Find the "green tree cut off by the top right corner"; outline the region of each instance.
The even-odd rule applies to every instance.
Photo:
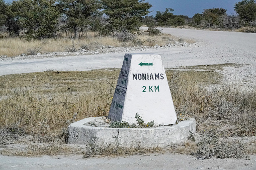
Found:
[[[234,10],[240,19],[246,23],[256,20],[256,2],[254,0],[243,0],[235,3]]]

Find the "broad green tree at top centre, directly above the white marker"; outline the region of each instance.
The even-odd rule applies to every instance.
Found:
[[[145,0],[102,0],[104,13],[108,16],[110,31],[135,31],[142,25],[142,17],[152,7]]]

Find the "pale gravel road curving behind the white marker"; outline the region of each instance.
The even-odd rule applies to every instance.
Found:
[[[227,80],[248,86],[255,83],[256,34],[173,28],[159,29],[163,33],[193,39],[199,43],[189,47],[141,49],[143,51],[130,50],[128,53],[160,54],[165,68],[223,63],[243,64],[243,67],[239,68],[226,68],[223,73],[225,73]],[[125,53],[0,58],[0,76],[46,70],[83,71],[101,68],[121,68]]]

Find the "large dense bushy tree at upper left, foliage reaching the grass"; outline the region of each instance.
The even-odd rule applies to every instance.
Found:
[[[60,13],[54,0],[19,0],[12,3],[15,20],[28,39],[56,37]]]

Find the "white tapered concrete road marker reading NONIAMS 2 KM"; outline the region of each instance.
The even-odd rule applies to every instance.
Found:
[[[125,54],[113,96],[109,118],[136,123],[175,124],[177,116],[160,55]]]

